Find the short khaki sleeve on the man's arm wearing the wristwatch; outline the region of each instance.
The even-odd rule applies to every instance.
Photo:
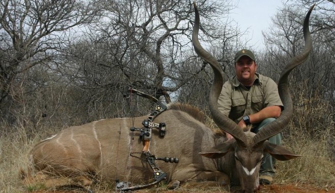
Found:
[[[283,109],[283,103],[280,100],[278,86],[271,78],[267,79],[264,87],[264,107],[280,106]]]

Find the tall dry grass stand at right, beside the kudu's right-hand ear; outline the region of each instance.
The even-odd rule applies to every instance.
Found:
[[[297,98],[293,121],[284,131],[283,145],[301,157],[278,162],[279,182],[335,188],[335,122],[327,102]]]

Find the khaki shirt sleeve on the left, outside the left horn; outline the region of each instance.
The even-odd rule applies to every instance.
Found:
[[[231,84],[227,81],[223,84],[219,99],[218,109],[221,113],[228,116],[231,110]]]

